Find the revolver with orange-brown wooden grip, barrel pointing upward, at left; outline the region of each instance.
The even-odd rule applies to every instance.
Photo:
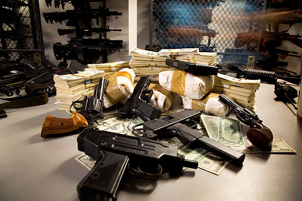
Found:
[[[41,130],[41,137],[58,136],[62,134],[72,134],[72,132],[89,127],[98,119],[103,119],[103,94],[108,81],[100,79],[100,83],[94,89],[93,96],[85,96],[84,100],[77,100],[70,106],[79,112],[74,112],[68,119],[57,118],[47,115]]]

